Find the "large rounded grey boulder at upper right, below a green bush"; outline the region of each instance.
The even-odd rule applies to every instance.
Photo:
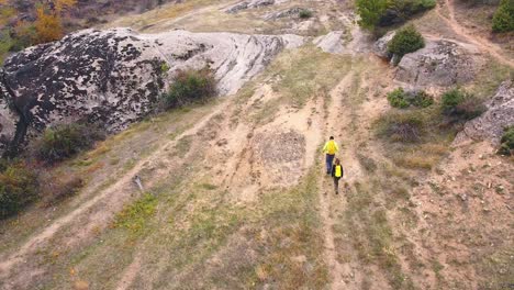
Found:
[[[424,48],[403,56],[395,79],[416,87],[462,85],[474,79],[481,59],[472,45],[428,40]]]

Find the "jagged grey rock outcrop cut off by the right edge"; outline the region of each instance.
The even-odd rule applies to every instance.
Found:
[[[488,111],[466,123],[455,144],[471,140],[489,140],[498,143],[503,130],[514,124],[514,83],[504,81],[487,103]]]

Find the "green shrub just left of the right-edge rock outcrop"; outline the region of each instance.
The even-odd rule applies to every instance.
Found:
[[[451,122],[468,121],[485,111],[479,99],[460,89],[451,89],[443,94],[442,109]]]

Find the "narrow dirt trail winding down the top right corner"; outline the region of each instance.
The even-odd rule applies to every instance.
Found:
[[[469,43],[476,45],[480,51],[489,53],[501,63],[514,67],[514,60],[509,56],[503,55],[502,49],[498,45],[473,34],[468,29],[458,23],[455,18],[455,7],[452,0],[445,0],[445,5],[448,9],[448,18],[444,15],[442,11],[443,7],[440,4],[437,5],[436,12],[443,20],[448,23],[455,33],[467,40]]]

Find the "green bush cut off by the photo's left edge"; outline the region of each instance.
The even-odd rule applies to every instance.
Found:
[[[37,198],[37,175],[26,164],[12,163],[0,172],[0,219],[18,213]]]

